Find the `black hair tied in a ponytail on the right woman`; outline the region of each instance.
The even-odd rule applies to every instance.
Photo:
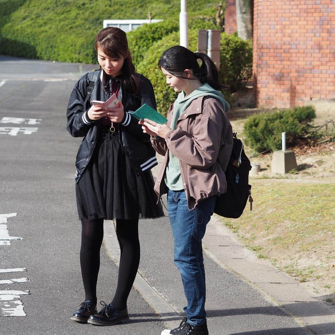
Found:
[[[201,66],[199,66],[197,59],[202,61]],[[164,51],[158,61],[158,67],[165,69],[176,77],[199,79],[203,84],[208,83],[216,90],[221,90],[225,87],[219,83],[217,68],[206,54],[192,52],[180,45]],[[192,70],[193,78],[186,77],[185,69]]]

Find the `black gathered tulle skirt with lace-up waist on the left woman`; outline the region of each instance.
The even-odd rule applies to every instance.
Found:
[[[118,88],[112,89],[112,93]],[[164,215],[153,189],[150,171],[138,176],[119,137],[119,124],[110,131],[110,121],[101,119],[92,157],[76,184],[79,219],[139,219]]]

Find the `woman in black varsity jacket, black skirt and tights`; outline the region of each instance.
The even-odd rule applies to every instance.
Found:
[[[140,260],[139,218],[163,216],[153,191],[150,169],[157,165],[150,136],[128,113],[144,103],[156,108],[150,81],[135,73],[126,33],[107,27],[96,36],[100,70],[90,87],[85,74],[75,84],[67,108],[67,130],[83,137],[76,158],[76,199],[82,224],[80,265],[85,300],[71,316],[82,323],[107,326],[129,319],[127,298]],[[87,89],[92,89],[85,104]],[[91,100],[106,101],[113,93],[118,105],[94,107]],[[96,284],[103,241],[104,220],[116,221],[121,249],[118,283],[110,304],[96,310]],[[112,284],[112,283],[111,283]]]

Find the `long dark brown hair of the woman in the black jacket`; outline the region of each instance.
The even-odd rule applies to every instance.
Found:
[[[132,94],[138,94],[140,84],[135,76],[135,66],[132,62],[126,33],[120,28],[106,27],[98,32],[95,38],[94,48],[112,58],[125,57],[122,66],[122,73],[119,76],[123,86]],[[103,71],[103,81],[109,80],[107,74]]]

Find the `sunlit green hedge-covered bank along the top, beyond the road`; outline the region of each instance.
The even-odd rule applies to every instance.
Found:
[[[190,21],[199,15],[213,18],[216,6],[189,2]],[[180,1],[0,0],[0,54],[96,63],[94,38],[105,18],[147,19],[149,11],[153,18],[179,22]]]

